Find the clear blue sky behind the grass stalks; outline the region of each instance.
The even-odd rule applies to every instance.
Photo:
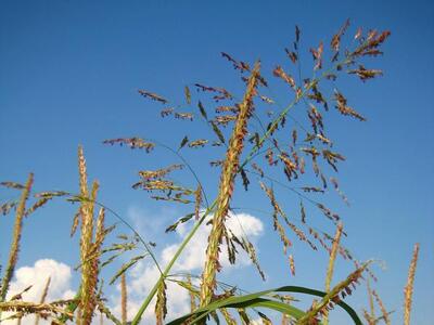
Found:
[[[336,115],[330,120],[336,148],[347,157],[339,179],[352,206],[345,207],[333,196],[330,205],[344,217],[348,233],[344,244],[354,255],[359,260],[384,262],[384,268],[374,266],[379,277],[374,287],[386,307],[395,310],[393,324],[401,323],[403,288],[412,246],[421,244],[412,320],[413,324],[432,324],[433,16],[433,2],[422,0],[1,1],[0,179],[24,182],[33,171],[36,191],[76,192],[76,153],[82,144],[89,177],[101,183],[100,200],[126,217],[149,240],[156,242],[164,259],[165,248],[179,242],[179,234],[163,235],[164,229],[186,209],[150,202],[146,193],[130,185],[137,181],[138,170],[178,162],[176,157],[163,150],[151,156],[107,147],[102,141],[139,135],[176,147],[184,134],[197,135],[204,129],[187,121],[162,120],[159,106],[142,99],[137,90],[148,89],[182,103],[183,87],[203,82],[225,86],[241,95],[238,73],[220,57],[221,51],[247,62],[260,58],[264,75],[270,76],[276,64],[289,66],[283,49],[292,43],[297,24],[304,72],[309,76],[308,49],[320,40],[328,46],[346,18],[352,21],[348,35],[354,35],[358,26],[390,29],[384,56],[370,65],[383,69],[384,76],[366,84],[347,79],[343,81],[348,83],[341,83],[349,104],[368,121],[360,123]],[[282,93],[279,82],[273,84],[275,93],[285,103],[290,95]],[[217,159],[218,154],[212,150],[201,153],[190,151],[186,155],[212,197],[218,173],[208,172],[204,165],[205,159]],[[246,195],[238,190],[234,206],[270,211],[260,191]],[[280,193],[290,211],[293,206],[297,208],[296,196],[283,190]],[[1,195],[4,200],[15,194],[2,191]],[[35,263],[41,259],[76,265],[76,239],[68,237],[74,212],[75,207],[58,202],[26,220],[18,266],[36,270]],[[250,235],[258,246],[268,280],[261,283],[253,268],[244,265],[225,274],[227,282],[252,289],[290,284],[322,288],[324,252],[311,253],[296,245],[297,275],[293,277],[269,214],[247,209],[243,212],[254,217],[240,218],[245,217],[247,223],[254,220],[248,223],[253,226]],[[312,224],[332,231],[319,213],[314,209],[311,213]],[[2,263],[12,222],[11,216],[0,219]],[[197,239],[194,245],[204,243]],[[352,270],[345,261],[337,265],[336,278]],[[149,266],[142,268],[152,273]],[[196,266],[190,270],[199,272]],[[139,283],[140,276],[136,274],[135,281]],[[72,275],[71,287],[63,283],[60,291],[74,290],[76,283]],[[365,291],[360,286],[348,300],[359,311],[367,307]],[[116,298],[111,303],[115,306]],[[337,313],[335,324],[346,322]]]

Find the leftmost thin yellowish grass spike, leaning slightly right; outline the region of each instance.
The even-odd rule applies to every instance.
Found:
[[[7,294],[9,290],[9,285],[12,280],[13,273],[15,271],[16,262],[18,261],[18,252],[20,252],[20,240],[23,231],[23,218],[26,211],[26,202],[28,199],[28,195],[31,190],[31,185],[34,182],[34,174],[29,173],[25,187],[23,188],[20,204],[16,208],[15,214],[15,224],[13,230],[13,237],[11,248],[9,249],[9,259],[8,266],[4,272],[4,276],[1,283],[1,291],[0,291],[0,302],[3,302],[7,298]],[[1,316],[1,313],[0,313]]]

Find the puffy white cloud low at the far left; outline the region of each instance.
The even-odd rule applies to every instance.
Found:
[[[68,265],[52,259],[40,259],[33,266],[23,266],[15,271],[15,277],[11,282],[8,298],[23,291],[31,285],[31,288],[23,294],[23,300],[39,302],[47,280],[51,277],[46,301],[73,298],[75,292],[71,289],[72,270]],[[2,317],[7,317],[3,313]],[[16,321],[2,322],[3,324],[16,324]],[[22,320],[23,325],[35,324],[35,316]],[[49,324],[41,321],[40,324]]]

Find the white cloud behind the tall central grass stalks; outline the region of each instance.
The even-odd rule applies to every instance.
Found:
[[[261,221],[247,213],[231,214],[227,220],[227,226],[238,237],[247,236],[251,242],[255,242],[264,232]],[[180,224],[177,229],[178,243],[166,246],[159,256],[161,265],[166,265],[183,237],[190,231],[191,225]],[[193,273],[200,274],[205,261],[205,249],[209,234],[210,225],[202,225],[195,233],[192,240],[189,243],[181,257],[178,259],[171,274],[176,273]],[[237,265],[229,263],[226,245],[221,247],[221,264],[230,272],[233,268],[242,268],[248,265],[250,259],[245,253],[240,253]],[[138,311],[140,303],[144,300],[145,295],[152,289],[157,281],[159,273],[155,265],[149,265],[140,262],[131,272],[128,273],[128,317],[132,317]],[[119,295],[113,297],[115,304],[115,314],[120,313]],[[167,299],[168,299],[168,318],[186,314],[190,311],[189,294],[186,289],[177,284],[167,283]],[[154,322],[154,302],[146,309],[143,314],[143,323],[151,324]]]

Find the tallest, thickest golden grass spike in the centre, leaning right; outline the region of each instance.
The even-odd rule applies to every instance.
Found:
[[[219,247],[225,226],[225,219],[229,210],[229,202],[233,193],[233,182],[240,164],[240,155],[244,147],[244,138],[247,133],[247,120],[252,115],[253,98],[256,94],[257,78],[259,75],[259,63],[255,64],[248,78],[244,99],[240,104],[240,112],[233,128],[226,159],[221,170],[219,192],[217,196],[217,209],[213,218],[212,230],[206,248],[205,266],[201,284],[201,307],[212,301],[216,287],[216,272],[219,270]]]

